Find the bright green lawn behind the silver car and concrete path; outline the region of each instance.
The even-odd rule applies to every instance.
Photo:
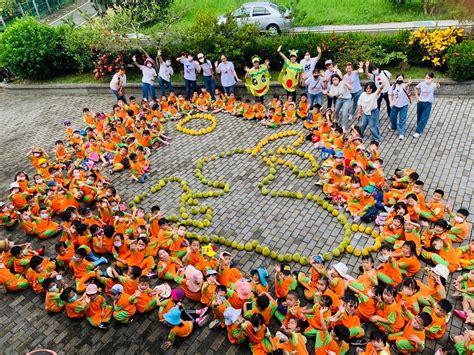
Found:
[[[174,6],[185,9],[187,14],[181,25],[192,23],[198,11],[206,10],[215,15],[233,11],[242,0],[175,0]],[[403,22],[434,19],[423,14],[420,0],[407,1],[404,5],[394,5],[389,0],[273,0],[273,2],[295,9],[295,26],[349,25],[378,22]],[[291,6],[291,3],[294,5]],[[438,15],[436,19],[447,19],[449,13]]]

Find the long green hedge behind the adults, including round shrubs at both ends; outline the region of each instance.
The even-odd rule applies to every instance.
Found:
[[[217,24],[214,16],[199,13],[195,25],[185,32],[158,34],[149,43],[160,43],[166,58],[175,58],[183,51],[205,53],[212,61],[225,53],[238,68],[250,65],[250,58],[258,54],[269,59],[272,69],[281,68],[281,58],[276,49],[297,49],[299,56],[309,50],[316,55],[316,48],[323,50],[323,59],[331,58],[342,67],[347,62],[370,60],[380,66],[397,66],[402,63],[419,65],[422,56],[409,44],[410,33],[396,34],[321,34],[307,33],[270,37],[261,35],[253,26],[237,27],[231,20]],[[473,42],[465,41],[449,51],[448,68],[456,80],[473,78]],[[7,67],[16,76],[41,79],[64,73],[80,73],[97,68],[99,58],[113,60],[120,53],[128,63],[133,54],[140,54],[140,45],[100,26],[74,28],[67,25],[50,27],[33,18],[15,21],[0,36],[0,66]],[[154,55],[156,47],[146,48]],[[177,70],[181,67],[173,61]],[[320,67],[324,64],[320,61]],[[110,68],[109,68],[110,69]]]

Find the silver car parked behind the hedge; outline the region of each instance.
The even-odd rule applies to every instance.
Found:
[[[254,24],[261,32],[276,35],[291,27],[291,11],[271,2],[247,2],[232,12],[238,26]],[[226,16],[220,16],[218,23],[225,23]]]

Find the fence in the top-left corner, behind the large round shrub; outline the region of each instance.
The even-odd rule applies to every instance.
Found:
[[[74,0],[26,0],[19,2],[18,5],[0,13],[0,31],[5,30],[8,24],[18,17],[43,18],[73,2]]]

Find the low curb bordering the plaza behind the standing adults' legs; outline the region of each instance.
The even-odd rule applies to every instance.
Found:
[[[416,85],[423,79],[413,80],[413,84]],[[366,83],[367,80],[361,80],[361,83]],[[474,80],[469,81],[454,81],[449,79],[440,79],[441,88],[438,91],[438,95],[445,96],[474,96]],[[198,86],[202,83],[198,82]],[[184,92],[184,83],[173,83],[173,87],[177,92]],[[0,83],[0,88],[4,92],[18,93],[35,93],[38,94],[56,94],[56,95],[97,95],[97,94],[111,94],[109,84],[7,84]],[[155,85],[157,94],[159,94],[159,86]],[[127,95],[141,95],[141,84],[129,84],[126,88]],[[298,92],[301,92],[298,90]],[[235,86],[235,94],[242,97],[250,97],[251,95],[247,91],[244,84],[237,84]],[[270,95],[284,95],[286,91],[282,86],[272,81],[270,84],[270,91],[266,96]]]

